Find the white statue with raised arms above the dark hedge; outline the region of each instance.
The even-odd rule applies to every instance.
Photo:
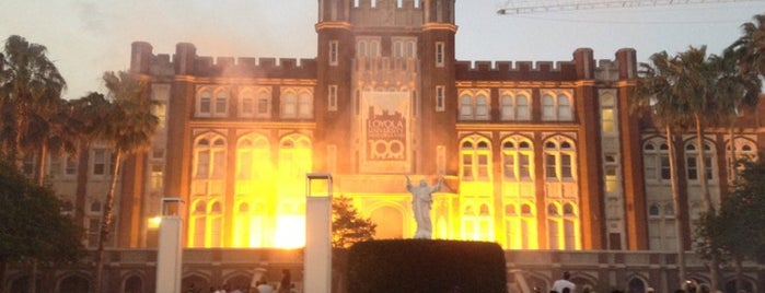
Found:
[[[433,225],[430,222],[430,206],[433,203],[431,195],[441,189],[443,177],[433,186],[428,186],[425,179],[419,180],[419,186],[413,186],[409,176],[406,176],[406,189],[412,192],[412,210],[417,222],[416,239],[430,239],[433,235]]]

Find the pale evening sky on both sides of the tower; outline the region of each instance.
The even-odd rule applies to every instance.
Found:
[[[758,0],[498,15],[506,1],[456,0],[457,60],[569,61],[582,47],[596,59],[635,48],[638,61],[688,46],[719,54],[741,24],[765,13]],[[185,42],[202,56],[315,58],[316,8],[316,0],[2,0],[0,42],[21,35],[46,46],[69,85],[65,96],[77,98],[104,92],[104,71],[127,70],[135,40],[154,54]]]

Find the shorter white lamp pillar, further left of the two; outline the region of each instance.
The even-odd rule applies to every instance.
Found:
[[[183,208],[184,201],[179,198],[162,199],[162,222],[157,251],[157,292],[181,293]]]

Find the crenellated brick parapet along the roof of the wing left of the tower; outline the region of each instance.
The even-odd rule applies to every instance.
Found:
[[[178,43],[171,58],[166,54],[153,55],[149,43],[135,42],[130,71],[155,77],[315,79],[316,60],[197,56],[196,47],[189,43]]]

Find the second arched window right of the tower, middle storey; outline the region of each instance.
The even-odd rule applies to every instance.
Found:
[[[509,181],[531,180],[533,150],[525,139],[508,139],[502,142],[502,177]]]

